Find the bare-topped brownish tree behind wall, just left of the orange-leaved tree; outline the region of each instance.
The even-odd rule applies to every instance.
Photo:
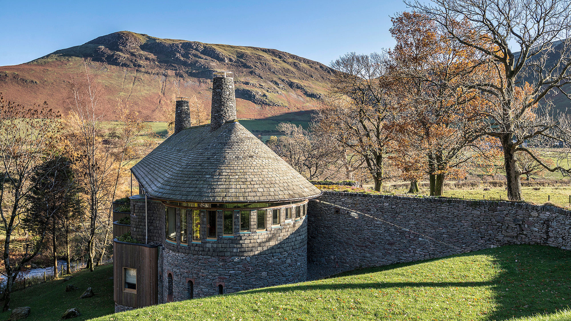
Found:
[[[326,106],[316,115],[316,129],[328,132],[351,154],[363,160],[380,191],[388,155],[396,148],[391,124],[397,105],[395,88],[387,78],[386,57],[379,54],[345,54],[331,64],[337,72]]]

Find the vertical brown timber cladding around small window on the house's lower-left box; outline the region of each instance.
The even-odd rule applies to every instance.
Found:
[[[113,244],[113,283],[116,304],[146,307],[158,303],[158,246],[119,242]],[[123,268],[135,268],[136,293],[123,291]]]

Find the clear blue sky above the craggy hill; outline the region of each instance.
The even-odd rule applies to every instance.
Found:
[[[0,0],[0,66],[128,30],[153,37],[273,48],[325,65],[391,47],[401,1]]]

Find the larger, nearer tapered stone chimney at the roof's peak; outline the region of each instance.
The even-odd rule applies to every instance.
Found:
[[[216,130],[224,122],[236,119],[236,95],[234,93],[233,73],[218,71],[212,75],[212,78],[210,129]]]

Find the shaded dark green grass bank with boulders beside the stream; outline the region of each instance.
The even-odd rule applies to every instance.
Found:
[[[11,308],[31,307],[26,321],[60,320],[63,312],[69,308],[78,308],[81,315],[73,320],[86,320],[111,314],[115,311],[113,302],[113,264],[96,267],[95,271],[79,271],[68,282],[62,279],[40,283],[22,291],[15,291],[10,302]],[[67,284],[74,284],[79,290],[66,292]],[[95,296],[79,299],[88,288],[93,288]],[[0,314],[0,320],[6,320],[10,311]]]

